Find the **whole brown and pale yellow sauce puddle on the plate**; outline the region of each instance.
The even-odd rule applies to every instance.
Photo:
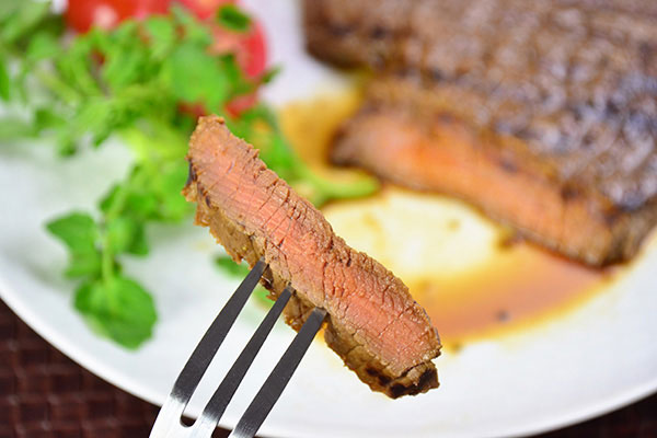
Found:
[[[343,181],[359,173],[332,168],[327,157],[336,129],[360,100],[360,91],[350,90],[281,108],[284,131],[316,171]],[[615,273],[514,242],[508,229],[446,196],[384,185],[323,212],[349,245],[404,280],[447,348],[558,318]]]

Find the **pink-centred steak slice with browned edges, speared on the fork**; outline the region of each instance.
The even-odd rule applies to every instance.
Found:
[[[285,310],[295,330],[314,307],[325,309],[326,344],[372,390],[397,397],[438,387],[431,362],[438,333],[406,286],[347,246],[257,155],[222,118],[199,119],[183,191],[197,204],[196,223],[209,227],[237,262],[253,266],[264,257],[263,284],[273,298],[287,285],[295,288]]]

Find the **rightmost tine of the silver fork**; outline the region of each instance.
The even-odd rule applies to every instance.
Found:
[[[326,318],[326,311],[315,308],[287,348],[261,390],[238,422],[229,438],[252,438],[280,397],[283,390],[299,366],[308,347]]]

